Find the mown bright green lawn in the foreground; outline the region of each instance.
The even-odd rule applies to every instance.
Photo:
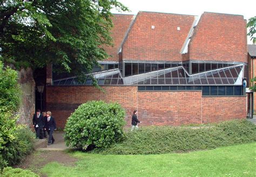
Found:
[[[161,155],[71,153],[80,160],[66,167],[47,164],[48,176],[256,176],[256,143],[209,151]]]

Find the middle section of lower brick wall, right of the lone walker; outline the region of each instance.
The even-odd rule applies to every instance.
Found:
[[[143,125],[201,124],[201,92],[138,92]]]

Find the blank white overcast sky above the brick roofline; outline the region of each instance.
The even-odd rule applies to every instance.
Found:
[[[245,19],[256,16],[256,0],[118,0],[127,6],[131,12],[124,14],[136,15],[138,11],[178,13],[198,15],[203,12],[218,12],[242,15]],[[113,13],[120,13],[112,10]],[[250,39],[247,41],[251,44]]]

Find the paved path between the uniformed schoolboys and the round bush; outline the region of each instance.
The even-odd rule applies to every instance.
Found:
[[[49,137],[49,136],[48,136]],[[64,142],[64,132],[62,131],[55,131],[53,132],[53,137],[55,139],[54,144],[47,145],[47,147],[44,148],[36,148],[36,150],[39,151],[65,151],[66,149],[70,149],[65,145]],[[48,138],[44,138],[46,142],[48,142]]]

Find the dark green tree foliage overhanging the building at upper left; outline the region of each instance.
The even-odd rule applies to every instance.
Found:
[[[112,8],[127,10],[116,0],[1,1],[0,55],[16,66],[90,71],[108,57]]]

